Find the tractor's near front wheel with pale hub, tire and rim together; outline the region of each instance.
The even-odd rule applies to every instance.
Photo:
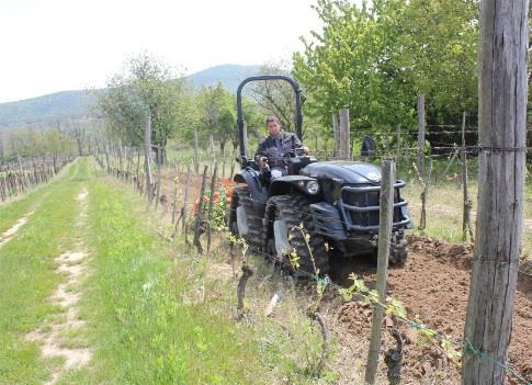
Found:
[[[314,275],[316,272],[319,275],[329,272],[325,239],[314,233],[310,203],[302,194],[272,196],[268,200],[263,220],[262,249],[295,276],[302,278]],[[308,247],[304,234],[298,228],[301,225],[304,234],[309,235]],[[288,258],[293,251],[298,257],[298,269],[294,268]]]

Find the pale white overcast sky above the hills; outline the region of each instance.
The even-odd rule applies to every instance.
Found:
[[[0,0],[0,102],[103,87],[147,50],[186,73],[290,60],[315,0]]]

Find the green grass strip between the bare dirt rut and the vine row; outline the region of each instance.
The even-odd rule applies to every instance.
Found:
[[[259,356],[227,317],[188,304],[185,263],[143,224],[145,204],[121,186],[90,186],[91,279],[82,316],[95,353],[65,384],[265,383]]]

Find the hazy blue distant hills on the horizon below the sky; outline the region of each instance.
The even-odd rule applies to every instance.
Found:
[[[189,75],[195,88],[215,86],[220,81],[235,92],[247,76],[257,73],[260,66],[222,65]],[[98,91],[97,91],[98,92]],[[94,94],[84,90],[61,91],[47,95],[0,103],[0,128],[21,126],[47,126],[65,118],[87,116],[94,103]]]

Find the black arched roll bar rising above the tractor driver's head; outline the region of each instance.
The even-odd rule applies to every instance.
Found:
[[[258,80],[284,80],[287,81],[295,93],[295,129],[296,135],[299,140],[303,140],[303,113],[302,113],[302,90],[299,83],[285,75],[260,75],[252,76],[250,78],[244,79],[244,81],[238,86],[237,89],[237,125],[238,125],[238,144],[240,147],[240,156],[246,156],[245,154],[245,137],[244,137],[244,112],[242,112],[242,88],[251,81]]]

